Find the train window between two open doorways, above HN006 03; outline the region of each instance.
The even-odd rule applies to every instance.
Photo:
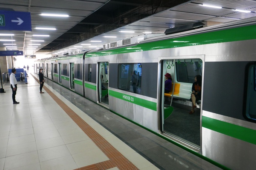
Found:
[[[141,92],[142,66],[140,63],[118,65],[118,88],[138,93]]]

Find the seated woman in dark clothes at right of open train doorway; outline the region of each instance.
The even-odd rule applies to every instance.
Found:
[[[189,114],[195,113],[195,108],[197,105],[195,105],[195,102],[198,100],[201,100],[201,90],[202,90],[202,76],[196,75],[195,76],[195,82],[192,84],[192,92],[190,101],[192,101],[192,108]]]

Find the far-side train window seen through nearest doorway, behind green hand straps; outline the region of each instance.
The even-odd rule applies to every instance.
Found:
[[[178,82],[194,83],[195,75],[202,75],[203,62],[200,59],[178,60],[175,64]]]

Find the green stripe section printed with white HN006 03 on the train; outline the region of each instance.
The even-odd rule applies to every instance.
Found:
[[[115,97],[115,98],[122,99],[124,101],[128,101],[128,102],[131,102],[133,104],[137,104],[137,105],[140,105],[142,107],[146,107],[146,108],[149,108],[151,110],[157,111],[157,103],[155,103],[155,102],[151,102],[151,101],[141,99],[141,98],[137,98],[137,97],[130,96],[130,95],[125,95],[123,93],[115,92],[113,90],[108,90],[108,94],[110,96]]]

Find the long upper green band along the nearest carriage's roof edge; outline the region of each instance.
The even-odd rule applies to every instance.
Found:
[[[188,35],[179,38],[170,38],[162,41],[137,44],[130,47],[104,50],[101,52],[87,53],[86,57],[106,56],[139,51],[160,50],[166,48],[187,47],[194,45],[215,44],[221,42],[243,41],[256,39],[256,25],[238,27],[227,30],[217,30],[197,35]],[[235,35],[235,36],[234,36]],[[106,53],[108,51],[109,53]]]

